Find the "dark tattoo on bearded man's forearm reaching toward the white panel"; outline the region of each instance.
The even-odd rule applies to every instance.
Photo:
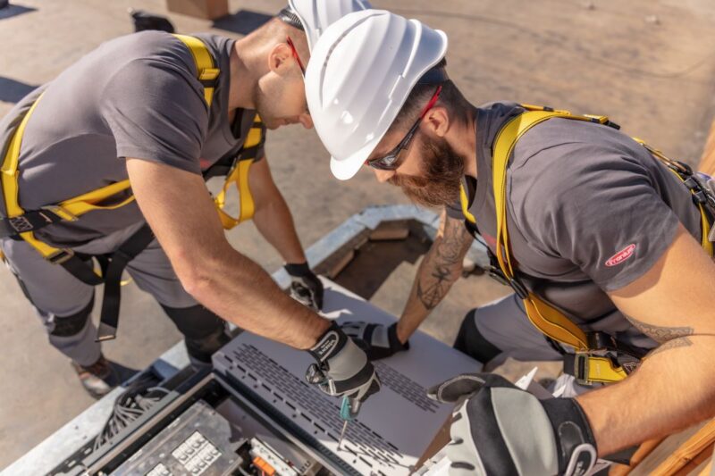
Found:
[[[454,268],[461,264],[467,243],[471,240],[461,221],[447,219],[444,235],[425,256],[417,276],[416,295],[427,310],[437,307],[457,280],[458,275],[453,275]],[[422,276],[423,270],[430,271],[429,276]]]

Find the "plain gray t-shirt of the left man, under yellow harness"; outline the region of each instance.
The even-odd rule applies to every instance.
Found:
[[[125,157],[200,174],[235,156],[256,112],[240,110],[235,121],[229,121],[229,58],[234,41],[197,37],[221,70],[210,112],[189,49],[159,31],[106,42],[16,104],[0,121],[2,144],[7,144],[21,114],[44,91],[22,138],[21,206],[37,209],[126,180]],[[258,158],[262,156],[259,151]],[[124,197],[113,197],[111,202]],[[142,220],[139,207],[132,203],[50,225],[36,236],[55,246],[80,246]]]

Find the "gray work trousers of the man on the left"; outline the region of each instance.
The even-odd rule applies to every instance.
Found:
[[[87,245],[78,246],[74,250],[88,255],[102,255],[115,251],[136,230],[141,223],[127,230],[110,234],[94,240]],[[77,313],[83,313],[88,308],[94,296],[94,287],[77,280],[62,266],[48,263],[42,256],[24,241],[10,238],[0,240],[8,264],[13,274],[18,278],[25,295],[35,307],[39,318],[45,325],[50,344],[64,355],[80,365],[90,365],[97,362],[101,347],[97,338],[97,329],[92,320],[86,316],[84,327],[76,333],[66,335],[55,329],[62,327],[63,318]],[[140,289],[156,298],[159,304],[170,308],[190,308],[198,305],[197,301],[181,286],[181,282],[172,269],[172,264],[164,254],[156,239],[137,255],[128,265],[126,271]],[[206,326],[223,326],[213,313],[206,311],[208,319]],[[170,314],[170,317],[173,316]],[[177,327],[181,329],[181,325]],[[67,326],[64,326],[67,327]],[[186,332],[184,332],[186,335]]]

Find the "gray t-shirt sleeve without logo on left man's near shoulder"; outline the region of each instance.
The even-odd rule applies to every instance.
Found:
[[[165,163],[201,173],[206,103],[189,71],[156,60],[135,60],[105,87],[102,114],[118,157]]]

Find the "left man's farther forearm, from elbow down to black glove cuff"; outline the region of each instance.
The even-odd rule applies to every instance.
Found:
[[[280,193],[257,210],[253,221],[261,235],[286,263],[306,262],[290,209]]]

